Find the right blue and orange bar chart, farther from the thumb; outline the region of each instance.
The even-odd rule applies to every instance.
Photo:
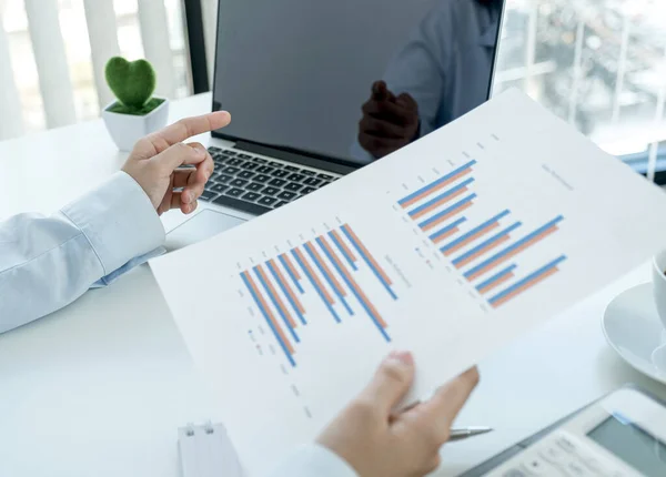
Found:
[[[531,227],[509,209],[480,219],[473,213],[474,205],[484,200],[474,192],[477,165],[470,160],[397,204],[437,252],[497,308],[559,271],[565,254],[545,256],[537,266],[521,265],[519,257],[556,233],[564,216]]]

